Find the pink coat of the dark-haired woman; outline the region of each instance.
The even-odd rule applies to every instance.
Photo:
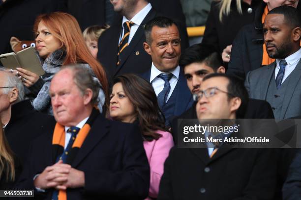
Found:
[[[158,140],[143,142],[151,168],[149,191],[149,197],[151,198],[157,198],[158,196],[159,184],[164,172],[164,162],[169,154],[169,150],[174,146],[173,136],[170,132],[158,130],[157,133],[162,135]]]

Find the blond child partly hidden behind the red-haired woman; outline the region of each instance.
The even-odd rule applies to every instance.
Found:
[[[87,46],[89,47],[89,50],[91,54],[94,56],[94,58],[97,57],[98,52],[98,38],[102,34],[103,31],[108,29],[109,25],[92,25],[87,27],[84,32],[83,36],[86,41]]]

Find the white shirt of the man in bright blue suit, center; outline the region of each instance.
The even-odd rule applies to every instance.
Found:
[[[160,70],[158,70],[153,63],[151,63],[151,78],[150,78],[150,82],[152,84],[152,87],[156,93],[156,96],[158,97],[158,94],[163,90],[164,88],[164,83],[165,81],[162,78],[157,77],[160,74],[163,75],[167,75],[167,74],[173,74],[173,77],[169,80],[169,84],[170,84],[170,91],[168,93],[167,96],[167,100],[166,102],[169,100],[170,96],[172,95],[178,80],[179,80],[179,75],[180,75],[180,66],[176,67],[174,70],[166,73],[166,72],[161,72]],[[166,103],[165,102],[165,103]]]

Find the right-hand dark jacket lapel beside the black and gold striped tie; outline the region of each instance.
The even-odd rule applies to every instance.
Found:
[[[122,54],[121,54],[121,62],[119,64],[119,66],[116,68],[114,76],[120,71],[120,69],[122,68],[122,66],[123,66],[124,62],[126,61],[127,57],[131,54],[131,52],[133,51],[133,49],[136,47],[136,45],[138,44],[139,40],[144,36],[144,27],[143,26],[147,22],[149,22],[152,18],[154,18],[155,15],[156,15],[156,11],[153,8],[151,8],[150,12],[144,18],[144,20],[142,21],[141,25],[139,25],[137,31],[135,32],[134,37],[130,41],[129,46],[127,48],[125,48],[124,51],[122,52]],[[121,29],[120,29],[120,32],[121,32]],[[120,34],[120,32],[119,32],[119,34]],[[116,54],[117,54],[117,51],[116,51]]]

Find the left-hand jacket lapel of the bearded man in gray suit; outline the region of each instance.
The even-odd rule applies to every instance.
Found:
[[[276,66],[276,62],[271,63],[268,66],[264,66],[263,68],[266,68],[263,71],[263,75],[261,77],[260,80],[260,98],[261,100],[266,100],[267,99],[267,94],[268,94],[268,89],[269,89],[269,85],[271,82],[271,78],[272,75],[274,74],[274,69]]]

